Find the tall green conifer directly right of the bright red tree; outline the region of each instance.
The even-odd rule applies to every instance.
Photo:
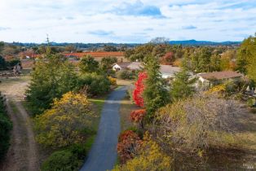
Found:
[[[147,110],[147,116],[150,119],[159,107],[164,106],[170,101],[170,96],[161,78],[158,60],[152,55],[148,55],[146,58],[145,71],[148,77],[144,83],[143,100]]]

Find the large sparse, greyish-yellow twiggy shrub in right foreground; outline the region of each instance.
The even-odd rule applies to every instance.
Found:
[[[162,142],[192,151],[218,147],[236,129],[241,107],[233,100],[198,96],[162,107],[157,134]]]

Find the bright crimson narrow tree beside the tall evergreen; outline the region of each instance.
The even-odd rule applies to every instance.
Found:
[[[135,82],[135,90],[133,92],[133,99],[135,100],[135,104],[139,107],[144,106],[143,102],[143,90],[144,83],[143,81],[148,77],[146,72],[139,72],[138,80]]]

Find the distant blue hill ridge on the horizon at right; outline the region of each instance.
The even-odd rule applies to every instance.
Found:
[[[170,45],[183,46],[239,46],[241,42],[208,42],[208,41],[170,41]]]

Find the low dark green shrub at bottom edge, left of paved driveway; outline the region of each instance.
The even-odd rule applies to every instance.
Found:
[[[79,170],[83,160],[78,159],[72,151],[55,151],[42,164],[42,171],[73,171]]]

